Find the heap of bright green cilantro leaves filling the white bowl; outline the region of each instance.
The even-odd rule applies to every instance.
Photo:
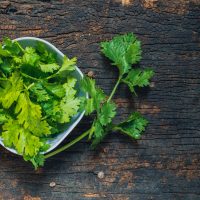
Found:
[[[42,43],[23,48],[5,38],[0,45],[0,138],[35,168],[48,139],[78,112],[75,65],[66,56],[59,64]]]

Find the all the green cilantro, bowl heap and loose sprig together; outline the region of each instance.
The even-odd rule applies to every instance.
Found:
[[[133,112],[124,121],[114,124],[117,105],[112,98],[119,84],[126,84],[136,95],[135,89],[148,86],[154,72],[134,66],[141,60],[142,50],[140,41],[132,33],[102,42],[101,51],[119,70],[116,84],[111,94],[106,95],[94,79],[85,76],[81,88],[89,97],[78,99],[74,89],[76,80],[70,76],[76,59],[65,57],[62,66],[59,66],[54,56],[40,46],[23,49],[16,42],[5,40],[4,48],[0,48],[0,96],[3,97],[0,98],[0,123],[4,144],[14,146],[25,160],[30,160],[37,168],[43,165],[44,159],[68,149],[85,137],[91,141],[93,148],[109,133],[140,139],[148,121],[139,112]],[[9,64],[6,65],[6,62]],[[2,96],[7,91],[9,96]],[[78,109],[85,110],[85,115],[95,116],[91,127],[61,148],[41,154],[48,148],[45,138],[58,133],[60,125],[69,122]]]

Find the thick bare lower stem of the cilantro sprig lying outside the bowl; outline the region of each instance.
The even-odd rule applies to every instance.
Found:
[[[87,130],[86,132],[84,132],[83,134],[81,134],[80,136],[78,136],[77,138],[75,138],[74,140],[72,140],[70,143],[62,146],[61,148],[59,148],[59,149],[57,149],[57,150],[55,150],[55,151],[53,151],[51,153],[46,154],[44,157],[45,158],[50,158],[50,157],[52,157],[52,156],[54,156],[54,155],[56,155],[56,154],[58,154],[58,153],[60,153],[60,152],[62,152],[64,150],[68,149],[69,147],[73,146],[74,144],[76,144],[77,142],[82,140],[84,137],[89,135],[89,133],[90,133],[90,129]]]

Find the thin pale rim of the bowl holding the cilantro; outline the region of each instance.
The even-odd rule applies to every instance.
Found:
[[[23,41],[23,40],[35,40],[35,41],[40,41],[42,43],[45,43],[46,45],[48,45],[49,47],[51,47],[55,52],[57,52],[58,54],[60,54],[60,56],[64,57],[64,54],[58,49],[56,48],[53,44],[51,44],[50,42],[38,38],[38,37],[19,37],[16,39],[13,39],[12,41]],[[75,66],[76,71],[79,73],[79,75],[81,76],[81,78],[83,78],[83,73],[81,72],[81,70]],[[88,93],[86,93],[86,98],[88,98]],[[63,131],[63,137],[61,137],[55,144],[53,144],[52,146],[50,146],[50,148],[45,151],[45,152],[41,152],[42,154],[46,154],[49,153],[50,151],[52,151],[53,149],[55,149],[61,142],[63,142],[63,140],[72,132],[72,130],[77,126],[77,124],[81,121],[81,119],[83,118],[84,114],[85,114],[85,110],[83,110],[82,112],[79,112],[80,116],[75,120],[75,122],[73,124],[71,124],[65,131]],[[58,133],[61,134],[61,133]],[[3,143],[3,141],[0,139],[0,144],[6,148],[8,151],[16,154],[16,155],[20,155],[17,153],[17,151],[13,148],[9,148],[6,147]],[[20,155],[22,156],[22,155]]]

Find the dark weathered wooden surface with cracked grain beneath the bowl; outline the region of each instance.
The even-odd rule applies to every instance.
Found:
[[[0,1],[0,39],[44,38],[78,56],[108,93],[117,70],[99,42],[126,32],[141,39],[141,66],[156,75],[138,98],[120,87],[116,120],[142,112],[150,121],[143,138],[112,134],[96,151],[83,141],[38,171],[0,148],[0,200],[200,199],[200,0]]]

